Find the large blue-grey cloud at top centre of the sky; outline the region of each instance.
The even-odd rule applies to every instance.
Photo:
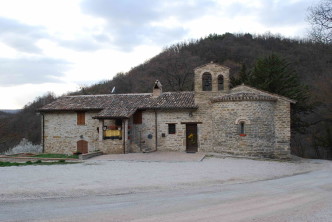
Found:
[[[84,0],[82,11],[103,18],[107,26],[107,40],[122,50],[132,50],[141,44],[169,44],[179,40],[188,31],[181,25],[184,21],[205,15],[213,6],[211,0],[162,1],[162,0]],[[177,25],[156,25],[167,19]],[[104,36],[105,37],[105,36]]]

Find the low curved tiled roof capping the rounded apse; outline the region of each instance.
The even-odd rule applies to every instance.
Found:
[[[277,101],[277,98],[251,92],[239,92],[227,94],[224,96],[217,96],[211,99],[211,102],[223,101]]]

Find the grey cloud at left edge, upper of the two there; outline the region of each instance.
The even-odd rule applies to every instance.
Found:
[[[48,37],[42,27],[26,25],[4,17],[0,17],[0,30],[0,40],[3,43],[27,53],[41,53],[36,43]]]

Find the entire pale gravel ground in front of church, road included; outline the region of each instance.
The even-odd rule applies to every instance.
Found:
[[[2,168],[0,221],[329,222],[331,169],[216,158]]]

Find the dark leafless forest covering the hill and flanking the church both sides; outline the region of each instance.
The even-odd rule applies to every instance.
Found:
[[[332,44],[280,35],[210,34],[197,40],[180,42],[148,61],[114,78],[81,87],[70,95],[151,92],[158,79],[163,91],[193,90],[193,69],[216,62],[231,69],[232,86],[250,75],[258,61],[276,55],[296,74],[308,96],[301,103],[310,106],[298,114],[301,129],[293,127],[292,153],[308,158],[331,158],[332,153]],[[112,61],[110,61],[112,62]],[[112,75],[113,76],[113,75]],[[250,82],[245,82],[251,84]],[[283,84],[283,83],[281,83]],[[253,85],[255,86],[255,85]],[[22,138],[40,143],[41,123],[36,110],[56,99],[50,93],[27,104],[16,114],[0,112],[0,152],[17,145]],[[301,104],[300,104],[301,105]]]

